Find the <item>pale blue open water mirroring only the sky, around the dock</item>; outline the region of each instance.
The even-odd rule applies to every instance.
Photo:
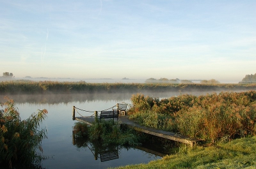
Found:
[[[44,155],[51,159],[43,161],[45,168],[108,168],[109,166],[121,166],[136,163],[148,163],[148,161],[159,159],[161,157],[149,154],[138,149],[119,149],[118,159],[100,162],[95,160],[89,148],[77,148],[72,143],[72,108],[75,105],[84,110],[104,110],[113,107],[116,103],[129,100],[108,100],[108,101],[84,101],[71,103],[57,103],[54,105],[37,103],[17,103],[20,116],[26,119],[37,109],[47,109],[49,114],[43,122],[42,127],[47,128],[47,137],[42,142]],[[92,115],[92,113],[79,112],[82,115]],[[77,115],[78,116],[78,115]]]

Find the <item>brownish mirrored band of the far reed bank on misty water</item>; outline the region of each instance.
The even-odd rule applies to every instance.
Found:
[[[170,98],[172,96],[179,96],[180,94],[204,95],[214,91],[204,92],[141,92],[145,96],[152,98]],[[12,94],[8,95],[10,99],[14,99],[16,103],[41,103],[41,104],[58,104],[70,102],[84,102],[84,101],[108,101],[108,100],[123,100],[131,99],[132,94],[137,92],[118,92],[118,93],[86,93],[86,94]],[[0,94],[0,103],[4,103],[4,96]]]

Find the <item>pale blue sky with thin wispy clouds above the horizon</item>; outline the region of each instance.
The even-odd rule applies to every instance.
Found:
[[[0,0],[0,73],[179,78],[256,73],[256,1]]]

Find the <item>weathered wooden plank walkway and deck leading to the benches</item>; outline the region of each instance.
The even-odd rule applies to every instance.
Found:
[[[86,122],[86,124],[91,125],[93,121],[95,121],[94,117],[76,117],[76,121]],[[169,140],[173,140],[176,142],[182,142],[191,145],[196,144],[200,140],[195,140],[192,138],[188,138],[186,136],[179,135],[178,133],[173,133],[170,131],[164,131],[163,129],[155,129],[155,128],[148,128],[145,126],[141,126],[140,124],[131,121],[128,115],[118,117],[118,121],[120,121],[121,125],[125,124],[127,127],[132,128],[136,131],[141,131],[143,133],[147,133],[149,135],[159,136],[161,138],[166,138]]]

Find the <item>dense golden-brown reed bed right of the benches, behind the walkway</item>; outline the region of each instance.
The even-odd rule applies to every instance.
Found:
[[[208,142],[256,134],[256,91],[188,94],[169,99],[133,95],[131,118],[145,126]]]

